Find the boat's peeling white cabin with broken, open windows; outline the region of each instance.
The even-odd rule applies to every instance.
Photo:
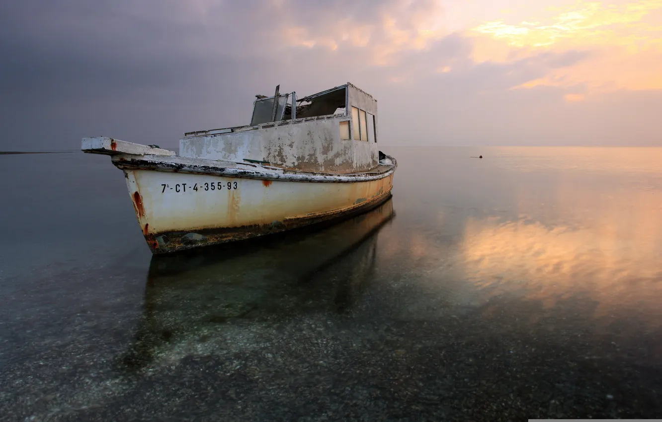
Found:
[[[377,100],[351,83],[308,95],[256,95],[246,126],[188,132],[182,157],[260,163],[314,173],[362,173],[378,165]]]

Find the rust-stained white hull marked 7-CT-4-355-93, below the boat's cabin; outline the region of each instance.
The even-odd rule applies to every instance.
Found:
[[[268,167],[252,165],[254,171],[243,169],[239,174],[237,168],[222,167],[214,174],[213,169],[201,170],[192,163],[173,166],[172,158],[164,157],[155,165],[134,157],[138,163],[131,162],[130,155],[113,158],[113,163],[126,175],[140,228],[153,253],[354,215],[387,200],[393,188],[393,171],[355,175],[354,179],[351,175],[305,177],[283,171],[269,174]]]

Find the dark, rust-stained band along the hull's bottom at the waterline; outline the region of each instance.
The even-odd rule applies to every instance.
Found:
[[[176,251],[183,251],[185,249],[193,249],[201,246],[216,245],[218,243],[226,243],[230,241],[244,240],[250,237],[268,235],[271,233],[284,232],[285,230],[301,228],[322,222],[330,222],[336,219],[340,220],[341,218],[350,218],[352,216],[363,214],[363,212],[377,208],[377,206],[383,204],[389,198],[391,198],[390,190],[381,196],[377,196],[371,200],[361,202],[360,205],[352,207],[350,210],[342,209],[336,212],[323,212],[320,214],[312,214],[298,218],[286,219],[283,222],[255,224],[253,226],[197,230],[196,233],[203,235],[204,241],[191,241],[191,239],[184,239],[184,237],[189,234],[188,231],[145,234],[147,230],[147,226],[145,226],[143,233],[145,234],[145,239],[150,246],[152,253],[172,253]]]

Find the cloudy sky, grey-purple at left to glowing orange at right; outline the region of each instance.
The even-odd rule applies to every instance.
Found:
[[[662,0],[0,3],[0,150],[176,148],[348,81],[385,146],[662,146]]]

